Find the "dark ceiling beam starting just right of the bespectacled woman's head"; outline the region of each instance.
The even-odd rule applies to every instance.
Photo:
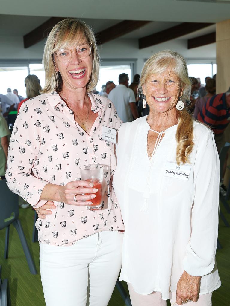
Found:
[[[141,21],[141,20],[121,21],[113,25],[112,27],[109,27],[101,32],[98,32],[96,34],[98,44],[107,43],[110,40],[123,36],[136,29],[139,29],[149,22],[150,21]]]

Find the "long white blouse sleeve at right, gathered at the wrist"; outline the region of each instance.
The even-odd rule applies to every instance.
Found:
[[[209,274],[215,264],[218,236],[220,162],[214,136],[199,128],[194,164],[195,196],[191,215],[191,237],[183,260],[184,270],[193,276]]]

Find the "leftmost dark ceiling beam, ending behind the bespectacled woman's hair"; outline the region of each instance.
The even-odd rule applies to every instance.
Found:
[[[24,48],[29,48],[34,44],[40,42],[47,38],[52,28],[61,20],[66,17],[51,17],[39,27],[35,28],[33,31],[23,36]]]

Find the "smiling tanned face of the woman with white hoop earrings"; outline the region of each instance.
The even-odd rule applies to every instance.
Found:
[[[150,110],[165,113],[176,106],[182,88],[178,76],[168,68],[162,73],[150,74],[143,85],[143,93]]]

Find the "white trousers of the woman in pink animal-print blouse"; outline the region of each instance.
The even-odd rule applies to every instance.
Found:
[[[123,234],[104,231],[72,246],[40,244],[46,306],[107,306],[121,269]]]

